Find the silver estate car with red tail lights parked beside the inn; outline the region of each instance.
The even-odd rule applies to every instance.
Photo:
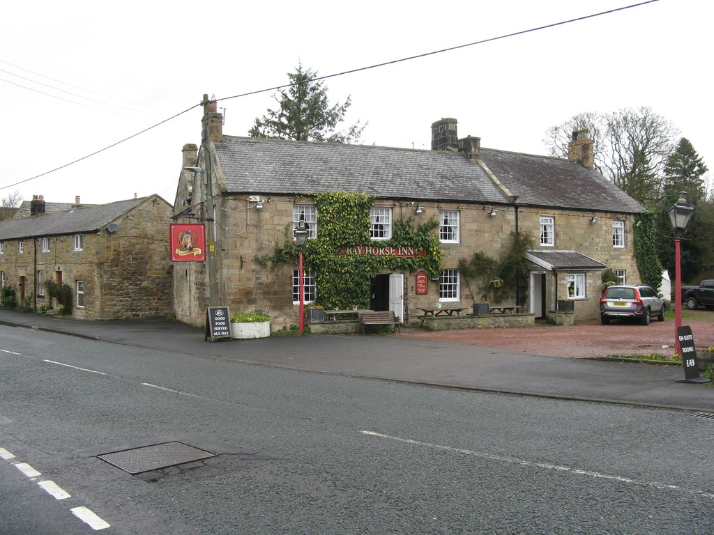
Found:
[[[608,325],[613,318],[631,317],[642,325],[650,325],[655,315],[660,322],[665,320],[665,302],[645,285],[613,285],[605,288],[600,298],[600,320]]]

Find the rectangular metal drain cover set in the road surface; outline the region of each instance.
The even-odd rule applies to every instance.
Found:
[[[134,449],[125,449],[121,452],[97,455],[99,459],[114,464],[129,474],[141,474],[158,470],[159,468],[174,467],[176,464],[216,457],[216,454],[203,449],[194,448],[182,442],[164,442]]]

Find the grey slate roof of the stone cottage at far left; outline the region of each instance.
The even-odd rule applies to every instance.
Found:
[[[34,238],[93,232],[105,228],[120,215],[149,197],[119,200],[116,203],[80,206],[64,212],[45,213],[29,218],[0,221],[0,240]]]

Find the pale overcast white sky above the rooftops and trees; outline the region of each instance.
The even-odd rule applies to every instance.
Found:
[[[4,2],[0,199],[174,203],[204,93],[223,133],[247,136],[273,93],[229,97],[283,85],[298,63],[326,76],[636,3]],[[325,83],[332,102],[351,96],[365,145],[429,149],[431,123],[453,117],[460,138],[545,154],[545,131],[576,113],[649,106],[714,170],[713,16],[710,0],[658,0]]]

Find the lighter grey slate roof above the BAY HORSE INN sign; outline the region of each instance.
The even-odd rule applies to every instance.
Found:
[[[224,136],[216,152],[228,193],[358,191],[386,198],[507,203],[461,154]]]

